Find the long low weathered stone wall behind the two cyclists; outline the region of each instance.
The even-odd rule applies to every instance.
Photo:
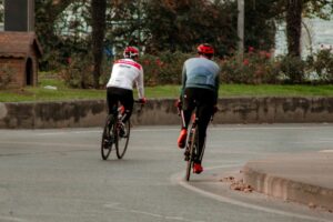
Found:
[[[180,124],[175,99],[149,100],[134,124]],[[101,127],[105,100],[0,102],[0,129]],[[214,123],[333,122],[333,98],[222,98]]]

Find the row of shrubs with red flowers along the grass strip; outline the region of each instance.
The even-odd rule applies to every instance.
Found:
[[[181,52],[162,52],[158,56],[141,56],[139,62],[144,70],[144,84],[148,87],[180,84],[183,62],[193,57]],[[295,57],[281,56],[271,58],[268,51],[249,50],[243,61],[233,56],[215,61],[221,67],[222,83],[304,83],[313,72],[323,83],[333,82],[333,54],[321,50],[303,61]],[[93,85],[91,54],[74,54],[62,71],[65,83],[72,88],[91,88]],[[111,73],[112,61],[103,60],[100,84],[105,85]],[[309,77],[306,77],[306,74]],[[3,80],[2,80],[3,81]]]

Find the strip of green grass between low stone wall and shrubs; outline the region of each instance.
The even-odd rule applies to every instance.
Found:
[[[46,85],[57,90],[44,89]],[[180,85],[147,87],[148,99],[178,98]],[[273,84],[221,84],[223,97],[333,97],[333,84],[326,85],[273,85]],[[137,97],[137,92],[134,92]],[[0,91],[0,102],[60,101],[80,99],[105,99],[105,90],[69,89],[62,81],[40,79],[39,87]]]

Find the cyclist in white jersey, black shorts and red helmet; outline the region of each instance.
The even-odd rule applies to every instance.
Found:
[[[117,60],[113,63],[111,77],[107,83],[107,100],[109,114],[113,105],[120,101],[127,113],[123,122],[130,119],[133,110],[133,84],[137,85],[139,102],[145,103],[143,87],[143,69],[137,62],[139,50],[135,47],[127,47],[123,52],[124,59]]]

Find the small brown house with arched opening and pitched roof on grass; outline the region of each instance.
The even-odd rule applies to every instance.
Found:
[[[37,85],[41,54],[34,32],[0,31],[0,81],[10,78],[7,88]]]

